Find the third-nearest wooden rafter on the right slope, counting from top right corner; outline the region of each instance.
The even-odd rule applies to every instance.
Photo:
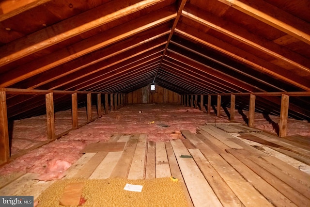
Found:
[[[254,56],[253,54],[222,42],[211,35],[204,33],[202,34],[202,32],[197,30],[195,31],[194,28],[188,28],[188,26],[186,26],[186,28],[176,28],[175,32],[180,33],[181,35],[193,39],[210,48],[216,49],[230,57],[233,57],[234,59],[237,59],[240,62],[243,62],[244,64],[256,68],[260,72],[267,73],[277,79],[284,80],[303,90],[310,91],[310,83],[308,80],[302,80],[301,77],[296,76],[289,71],[285,71],[283,68],[270,64],[263,59]]]

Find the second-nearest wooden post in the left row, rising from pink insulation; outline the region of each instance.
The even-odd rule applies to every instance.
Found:
[[[45,95],[47,107],[47,139],[55,139],[55,114],[54,114],[54,94]]]

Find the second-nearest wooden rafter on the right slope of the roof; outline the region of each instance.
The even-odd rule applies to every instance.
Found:
[[[310,73],[310,62],[305,57],[248,32],[232,22],[209,15],[206,11],[195,6],[186,6],[182,11],[182,15]]]

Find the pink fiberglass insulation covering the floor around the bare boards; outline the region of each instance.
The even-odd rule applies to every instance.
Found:
[[[96,118],[95,107],[92,115]],[[211,111],[213,112],[213,110]],[[86,110],[78,111],[78,124],[86,122]],[[248,116],[248,111],[243,111]],[[236,122],[246,124],[243,114],[235,112]],[[71,111],[60,111],[55,114],[56,131],[62,132],[71,127]],[[267,118],[267,120],[266,120]],[[110,111],[101,118],[70,131],[60,140],[48,143],[18,157],[0,167],[0,175],[12,172],[29,172],[38,174],[38,179],[51,180],[63,176],[63,172],[82,156],[80,153],[88,143],[107,142],[113,134],[145,133],[148,140],[166,141],[182,138],[181,130],[196,133],[199,126],[205,123],[229,122],[222,110],[221,116],[214,113],[203,113],[198,109],[178,104],[135,104],[116,111]],[[274,126],[279,117],[255,113],[254,127],[276,132]],[[288,135],[300,134],[310,136],[310,123],[289,119]],[[28,129],[28,130],[26,130]],[[16,121],[13,128],[12,152],[27,149],[30,146],[47,140],[46,117],[37,116]]]

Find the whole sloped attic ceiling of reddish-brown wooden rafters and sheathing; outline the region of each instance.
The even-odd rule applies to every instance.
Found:
[[[0,9],[0,88],[310,91],[309,0],[2,0]],[[290,101],[294,117],[310,120],[309,97]],[[7,106],[20,118],[45,103],[8,95]]]

